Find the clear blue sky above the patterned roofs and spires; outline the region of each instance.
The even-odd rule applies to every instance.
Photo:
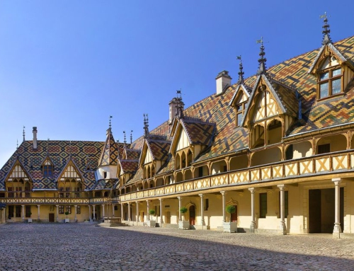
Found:
[[[176,90],[185,107],[215,93],[215,76],[237,81],[321,46],[327,11],[333,41],[354,35],[354,4],[341,1],[16,1],[0,2],[0,167],[16,140],[104,141],[169,118]]]

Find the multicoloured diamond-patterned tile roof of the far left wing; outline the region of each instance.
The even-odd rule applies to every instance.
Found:
[[[18,158],[23,164],[25,171],[30,174],[33,181],[33,189],[57,189],[57,178],[64,166],[72,161],[78,167],[84,178],[84,189],[90,189],[96,182],[93,171],[86,171],[88,163],[92,168],[98,166],[98,160],[103,149],[103,142],[80,142],[80,141],[41,141],[37,142],[37,149],[33,149],[32,141],[25,141],[18,147],[16,152],[0,170],[0,189],[4,190],[4,178],[11,170],[13,163]],[[53,177],[44,178],[42,175],[42,162],[49,156],[54,163]]]

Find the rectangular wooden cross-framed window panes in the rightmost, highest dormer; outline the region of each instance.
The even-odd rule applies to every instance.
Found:
[[[325,69],[319,74],[319,98],[326,98],[341,93],[341,82],[341,67],[336,66],[336,69]]]

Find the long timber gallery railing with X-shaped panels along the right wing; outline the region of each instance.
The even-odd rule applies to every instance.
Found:
[[[193,180],[164,185],[158,188],[131,192],[120,195],[122,202],[145,197],[159,197],[181,192],[193,192],[246,183],[260,183],[269,180],[306,177],[315,174],[327,174],[354,170],[354,152],[338,151],[311,157],[281,161],[251,168],[243,168],[227,173],[218,173]]]

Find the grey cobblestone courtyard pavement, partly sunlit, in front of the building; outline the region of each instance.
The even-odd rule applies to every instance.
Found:
[[[354,270],[354,239],[1,224],[0,270]]]

